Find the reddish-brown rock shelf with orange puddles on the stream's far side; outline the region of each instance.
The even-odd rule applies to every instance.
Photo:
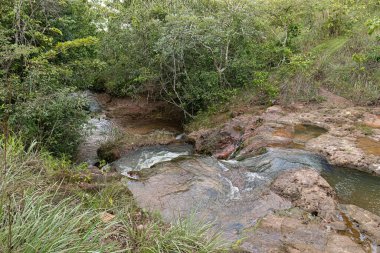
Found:
[[[216,157],[223,147],[229,147],[227,155],[236,152],[237,157],[254,156],[267,147],[298,148],[321,154],[332,165],[380,175],[378,113],[376,108],[362,107],[272,106],[259,116],[243,114],[218,129],[200,130],[190,136],[197,150],[206,149]],[[235,129],[240,130],[239,135]],[[233,145],[215,141],[214,136],[229,136]]]

